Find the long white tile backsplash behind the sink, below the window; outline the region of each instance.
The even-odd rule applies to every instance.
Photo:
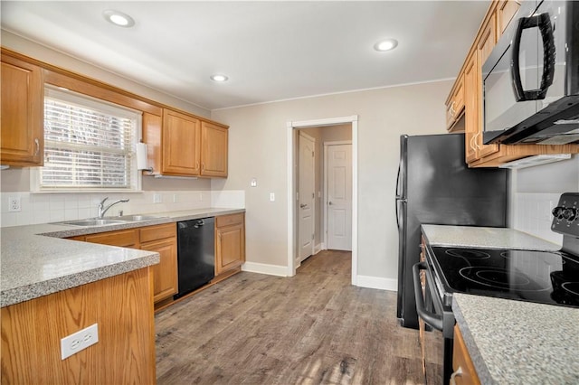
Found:
[[[106,216],[149,214],[166,211],[195,210],[208,207],[244,208],[243,191],[146,191],[131,193],[31,193],[1,192],[1,227],[56,221],[73,221],[97,216],[104,197],[110,202],[130,201],[111,207]],[[10,198],[20,199],[20,211],[9,211]]]

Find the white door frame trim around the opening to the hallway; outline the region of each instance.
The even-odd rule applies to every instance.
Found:
[[[324,127],[351,124],[352,125],[352,285],[357,286],[358,269],[358,116],[329,117],[315,120],[300,120],[286,122],[287,134],[287,175],[288,175],[288,277],[296,275],[296,173],[294,172],[294,129],[308,127]]]

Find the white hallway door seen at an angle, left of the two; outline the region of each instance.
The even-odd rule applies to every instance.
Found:
[[[314,196],[315,196],[315,141],[311,136],[299,133],[299,199],[298,264],[313,254],[314,250]]]

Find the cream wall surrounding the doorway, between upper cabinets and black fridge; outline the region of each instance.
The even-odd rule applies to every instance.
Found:
[[[212,190],[244,190],[248,261],[287,266],[288,121],[358,116],[358,274],[397,276],[394,188],[402,134],[445,133],[451,81],[214,110],[230,126],[229,177]],[[258,186],[251,188],[255,177]],[[276,201],[269,202],[270,192]]]

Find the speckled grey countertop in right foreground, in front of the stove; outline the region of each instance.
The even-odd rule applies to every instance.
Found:
[[[455,293],[452,312],[481,383],[579,383],[579,309]]]

